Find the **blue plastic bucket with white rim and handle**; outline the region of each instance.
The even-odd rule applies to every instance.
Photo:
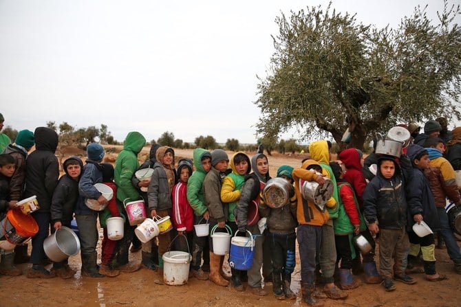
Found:
[[[232,240],[230,240],[230,253],[229,253],[229,266],[232,269],[240,271],[247,271],[253,265],[253,254],[255,247],[255,239],[250,231],[249,237],[236,236],[238,230],[235,232]]]

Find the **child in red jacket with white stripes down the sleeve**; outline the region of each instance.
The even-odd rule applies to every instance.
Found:
[[[180,238],[176,238],[175,247],[178,251],[192,252],[193,240],[193,209],[187,201],[187,181],[192,174],[192,161],[180,159],[176,170],[179,181],[171,192],[171,202],[173,203],[173,226],[178,231]],[[184,237],[182,237],[184,236]],[[184,240],[186,238],[186,240]],[[187,244],[186,244],[187,243]]]

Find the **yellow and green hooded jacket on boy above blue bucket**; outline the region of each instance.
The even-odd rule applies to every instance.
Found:
[[[237,155],[244,155],[246,158],[246,162],[248,163],[248,169],[246,170],[245,174],[239,174],[237,169],[235,168],[235,157]],[[221,187],[221,201],[223,203],[228,203],[228,220],[230,222],[235,222],[235,208],[237,207],[237,203],[240,199],[240,194],[242,187],[245,183],[245,175],[249,174],[251,171],[251,162],[250,158],[246,155],[246,153],[239,151],[235,152],[232,158],[229,161],[229,166],[232,172],[224,178]]]

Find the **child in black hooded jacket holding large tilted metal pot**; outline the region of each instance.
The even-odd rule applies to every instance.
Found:
[[[74,219],[75,205],[78,200],[78,181],[83,169],[83,162],[79,157],[69,157],[63,163],[65,174],[58,181],[54,189],[51,203],[52,233],[61,227],[69,227]],[[68,265],[68,260],[53,262],[54,273],[63,279],[74,276],[76,271]]]

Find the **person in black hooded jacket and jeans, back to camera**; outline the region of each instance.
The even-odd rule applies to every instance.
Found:
[[[28,271],[29,278],[50,278],[56,275],[47,271],[43,266],[45,250],[43,242],[50,234],[51,214],[50,207],[54,188],[58,185],[59,162],[54,152],[58,146],[58,134],[51,128],[39,127],[34,131],[35,150],[25,160],[25,190],[23,197],[36,195],[40,209],[32,212],[39,232],[32,237],[32,253]]]

